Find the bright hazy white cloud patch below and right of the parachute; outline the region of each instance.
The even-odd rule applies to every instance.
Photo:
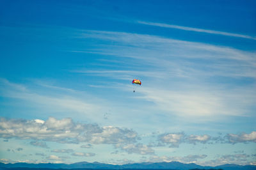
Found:
[[[196,121],[216,120],[221,116],[252,116],[255,92],[250,89],[236,89],[236,93],[225,88],[206,87],[198,89],[191,84],[181,89],[157,89],[143,87],[138,91],[142,98],[154,102],[159,109],[168,111],[172,116]],[[188,88],[188,89],[186,89]],[[241,102],[243,98],[243,102]],[[236,105],[234,105],[236,104]],[[215,116],[214,116],[215,115]],[[218,115],[218,116],[216,116]],[[200,116],[200,120],[198,120]]]

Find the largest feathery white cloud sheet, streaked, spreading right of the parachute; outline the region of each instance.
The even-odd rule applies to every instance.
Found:
[[[135,69],[124,66],[122,70],[81,69],[75,72],[124,80],[143,77],[143,88],[138,91],[140,98],[154,102],[157,108],[172,116],[189,119],[200,116],[201,119],[195,120],[205,121],[225,115],[253,114],[251,108],[256,100],[255,85],[241,85],[232,81],[256,79],[255,52],[110,31],[85,30],[81,38],[120,44],[108,46],[99,43],[97,49],[85,52],[125,58],[129,66]]]

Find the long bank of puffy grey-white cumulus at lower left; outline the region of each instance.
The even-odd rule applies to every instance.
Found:
[[[81,148],[92,148],[92,144],[112,144],[128,153],[142,155],[154,151],[146,145],[138,144],[138,134],[134,130],[119,127],[99,127],[97,124],[75,123],[71,118],[57,120],[18,120],[0,119],[0,137],[34,139],[30,144],[47,148],[45,141],[58,143],[90,143]],[[52,150],[57,153],[70,153],[73,150]]]

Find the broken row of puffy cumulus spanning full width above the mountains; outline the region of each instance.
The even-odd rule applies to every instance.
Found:
[[[179,147],[180,143],[207,143],[208,141],[221,141],[221,143],[256,143],[256,132],[250,134],[227,134],[224,137],[211,137],[210,135],[186,135],[182,133],[168,133],[158,135],[157,141],[170,147]],[[4,139],[32,139],[31,144],[47,148],[45,141],[57,143],[90,143],[113,144],[128,153],[141,155],[154,153],[152,148],[138,143],[141,137],[134,130],[119,127],[99,127],[97,124],[75,123],[71,118],[57,120],[50,117],[48,120],[22,120],[0,119],[0,137]],[[86,145],[82,148],[88,148]],[[89,148],[90,148],[89,147]],[[52,150],[56,153],[70,153],[73,150]]]

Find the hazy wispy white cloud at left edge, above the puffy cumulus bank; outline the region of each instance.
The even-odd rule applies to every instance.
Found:
[[[52,112],[76,112],[92,120],[95,118],[92,112],[99,114],[100,109],[104,107],[103,105],[102,107],[97,105],[97,102],[102,101],[101,98],[95,100],[96,97],[92,97],[92,95],[88,95],[83,91],[61,88],[38,81],[35,84],[39,86],[33,89],[24,84],[0,78],[0,96],[18,99],[24,102],[26,107],[31,105],[40,107],[40,111],[48,112],[48,114]],[[45,93],[45,91],[47,92]]]

